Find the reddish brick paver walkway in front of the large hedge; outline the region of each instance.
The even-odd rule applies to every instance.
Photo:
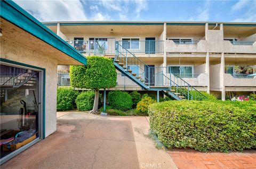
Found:
[[[203,153],[192,149],[171,149],[168,152],[177,167],[182,169],[256,169],[256,150],[230,152],[228,154],[222,152]]]

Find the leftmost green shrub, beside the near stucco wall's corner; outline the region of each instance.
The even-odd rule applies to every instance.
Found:
[[[65,111],[76,108],[75,100],[79,92],[68,87],[57,88],[57,110]]]

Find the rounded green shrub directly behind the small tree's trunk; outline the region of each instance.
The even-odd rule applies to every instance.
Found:
[[[94,103],[93,91],[82,92],[76,98],[76,106],[77,106],[77,109],[80,111],[92,110],[93,103]]]

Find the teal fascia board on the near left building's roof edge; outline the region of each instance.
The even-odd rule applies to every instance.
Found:
[[[53,46],[55,49],[86,65],[87,60],[83,54],[76,51],[74,47],[70,46],[58,35],[53,33],[52,30],[44,26],[43,23],[39,22],[13,1],[1,1],[0,15],[5,20],[13,23],[31,35],[34,35],[45,43]]]

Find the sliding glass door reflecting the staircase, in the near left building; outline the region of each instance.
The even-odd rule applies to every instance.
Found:
[[[1,62],[1,163],[42,138],[42,75]]]

